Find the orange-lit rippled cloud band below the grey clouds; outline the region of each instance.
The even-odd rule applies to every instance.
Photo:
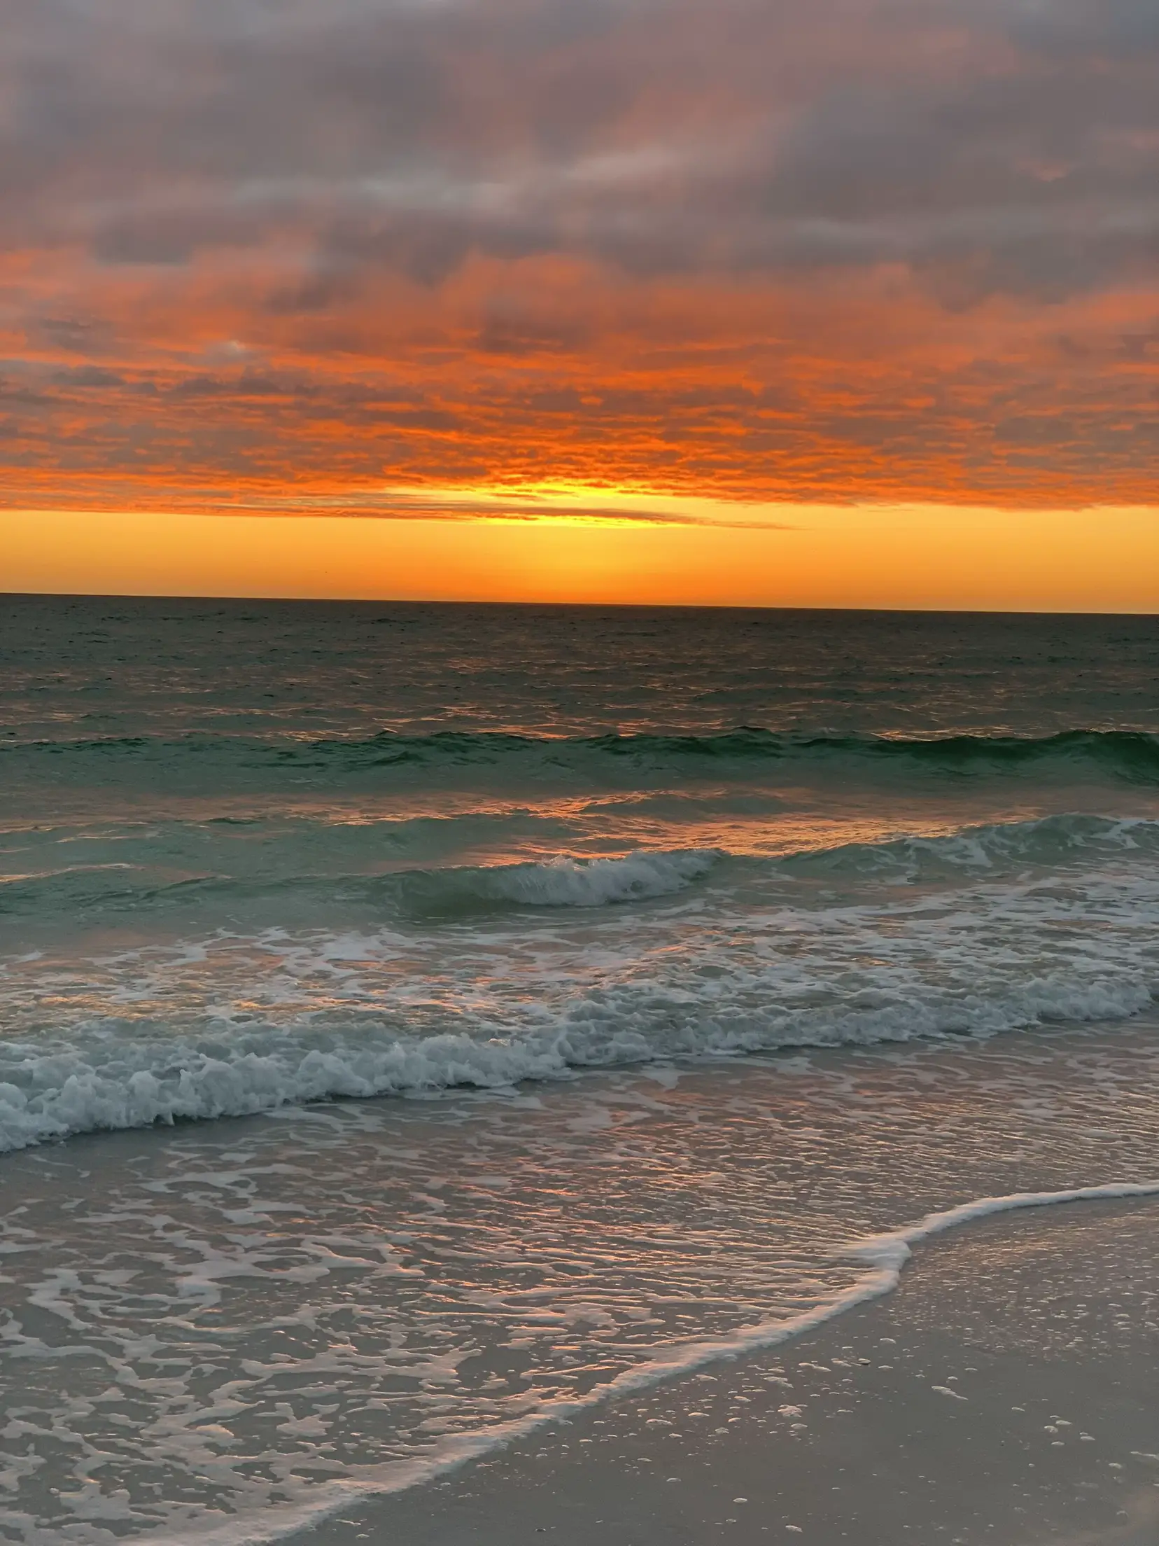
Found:
[[[91,334],[116,343],[45,346],[5,382],[6,499],[309,493],[374,513],[423,484],[1012,507],[1156,493],[1148,291],[952,311],[892,269],[787,286],[474,260],[436,291],[386,277],[323,314],[266,298],[252,275],[196,267],[145,294],[136,275],[94,281]]]

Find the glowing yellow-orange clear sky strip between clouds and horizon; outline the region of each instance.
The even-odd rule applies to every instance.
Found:
[[[388,496],[383,495],[383,499]],[[377,518],[9,510],[0,586],[79,594],[1159,611],[1159,510],[393,490]]]

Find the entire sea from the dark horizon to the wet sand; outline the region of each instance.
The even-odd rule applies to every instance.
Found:
[[[1159,618],[5,597],[0,703],[0,1541],[272,1540],[1159,1177]]]

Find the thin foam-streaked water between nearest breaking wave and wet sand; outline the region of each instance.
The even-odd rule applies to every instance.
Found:
[[[1154,1031],[584,1074],[9,1156],[0,1531],[269,1538],[613,1381],[776,1340],[872,1289],[864,1235],[1157,1172]]]

